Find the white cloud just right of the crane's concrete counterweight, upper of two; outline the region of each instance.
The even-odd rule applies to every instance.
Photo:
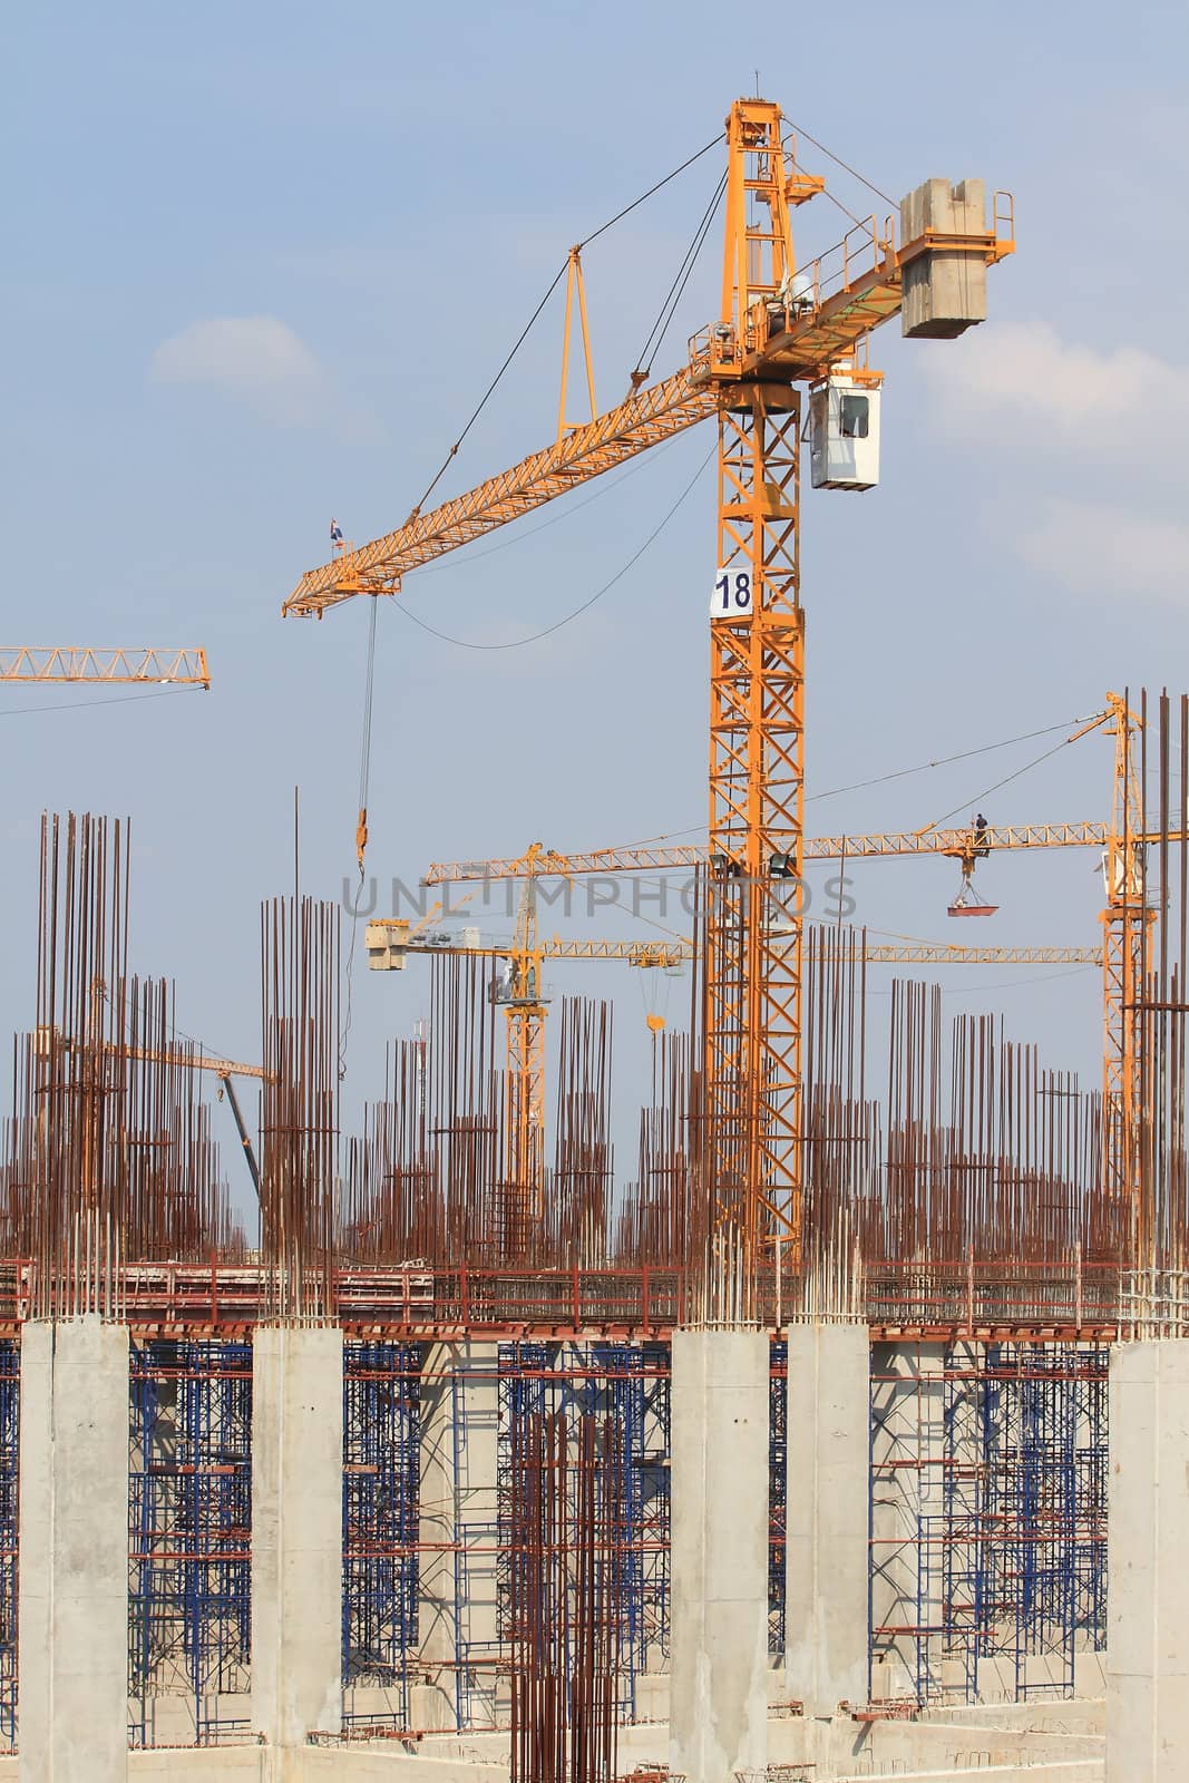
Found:
[[[957,431],[982,431],[998,410],[1041,449],[1059,435],[1091,456],[1116,458],[1119,448],[1143,455],[1155,439],[1180,433],[1189,407],[1187,367],[1134,346],[1073,346],[1048,323],[977,328],[923,364]],[[1119,437],[1128,431],[1130,442]]]

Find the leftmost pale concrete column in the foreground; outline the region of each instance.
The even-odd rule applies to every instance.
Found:
[[[128,1776],[128,1330],[21,1334],[21,1783]]]

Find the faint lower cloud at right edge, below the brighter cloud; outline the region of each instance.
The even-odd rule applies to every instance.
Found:
[[[1189,526],[1132,508],[1050,501],[1016,540],[1023,562],[1075,594],[1189,601]]]

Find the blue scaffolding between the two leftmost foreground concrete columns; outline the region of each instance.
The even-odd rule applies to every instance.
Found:
[[[130,1355],[128,1696],[189,1697],[196,1746],[246,1728],[251,1653],[251,1346],[153,1337]]]

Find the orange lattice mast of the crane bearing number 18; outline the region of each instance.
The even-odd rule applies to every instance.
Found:
[[[727,351],[793,269],[781,112],[738,102],[727,125]],[[804,196],[809,196],[808,193]],[[749,221],[749,209],[752,221]],[[718,578],[709,626],[709,874],[704,915],[704,1180],[729,1221],[745,1294],[765,1237],[800,1246],[800,916],[772,895],[802,870],[804,613],[800,399],[740,383],[718,415]],[[742,599],[745,596],[745,599]],[[711,1271],[711,1277],[715,1271]],[[749,1316],[747,1305],[733,1311]]]

